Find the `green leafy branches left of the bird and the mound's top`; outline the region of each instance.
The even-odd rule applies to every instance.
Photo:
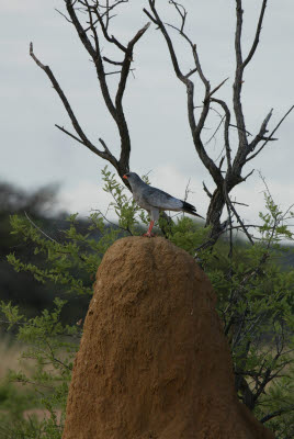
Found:
[[[92,294],[92,283],[106,249],[118,238],[139,234],[139,219],[147,222],[146,215],[126,195],[127,189],[115,180],[105,167],[102,171],[103,190],[112,196],[109,209],[114,209],[118,225],[106,227],[104,215],[93,212],[89,216],[86,233],[78,230],[78,214],[68,218],[69,227],[63,230],[63,239],[56,240],[45,234],[26,216],[12,215],[12,234],[24,243],[34,246],[34,262],[26,262],[10,254],[7,259],[15,271],[26,271],[42,283],[52,282],[61,285],[71,294]],[[45,258],[45,263],[44,263]]]

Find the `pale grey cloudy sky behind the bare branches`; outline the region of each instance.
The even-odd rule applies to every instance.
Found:
[[[197,45],[202,68],[212,88],[229,78],[216,97],[231,108],[235,1],[183,0],[182,3],[189,12],[186,32]],[[160,1],[160,5],[165,21],[177,24],[168,1]],[[253,40],[261,0],[244,0],[245,54]],[[147,7],[146,0],[131,0],[122,5],[112,24],[116,38],[126,43],[146,24],[144,7]],[[0,179],[27,190],[57,183],[58,209],[82,215],[92,209],[105,212],[111,201],[102,190],[101,169],[105,161],[54,126],[58,124],[72,132],[48,78],[29,55],[29,45],[33,42],[35,55],[50,66],[91,140],[99,146],[98,138],[102,137],[117,157],[116,126],[103,105],[89,55],[74,26],[56,9],[65,12],[63,0],[1,1]],[[244,112],[250,133],[259,130],[272,108],[270,128],[273,128],[294,103],[293,16],[293,0],[269,0],[260,45],[244,78]],[[171,36],[181,67],[189,71],[191,53],[174,32]],[[115,56],[106,44],[103,44],[103,55]],[[131,169],[139,175],[149,172],[152,185],[178,198],[184,196],[190,181],[188,201],[205,216],[208,199],[202,182],[211,191],[214,184],[191,139],[185,88],[173,74],[167,46],[155,25],[137,43],[133,67],[134,76],[129,76],[124,98],[132,138]],[[108,78],[113,91],[117,76]],[[203,89],[200,81],[195,85],[195,104],[201,104]],[[215,114],[205,127],[204,140],[212,136],[217,124]],[[255,169],[252,177],[231,193],[233,199],[249,204],[249,207],[239,207],[245,221],[257,223],[263,206],[264,185],[259,172],[281,209],[294,203],[293,132],[294,112],[280,127],[279,142],[269,143],[245,168],[244,175]],[[231,140],[237,145],[234,131]],[[219,135],[207,144],[206,150],[217,158],[223,145]],[[110,166],[110,169],[113,168]]]

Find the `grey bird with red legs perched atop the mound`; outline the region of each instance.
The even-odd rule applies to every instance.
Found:
[[[203,216],[196,213],[196,209],[192,204],[176,199],[169,193],[145,183],[136,172],[127,172],[123,178],[128,181],[136,203],[149,214],[150,224],[144,236],[149,238],[154,236],[151,230],[155,222],[159,218],[160,211],[185,212],[204,219]]]

